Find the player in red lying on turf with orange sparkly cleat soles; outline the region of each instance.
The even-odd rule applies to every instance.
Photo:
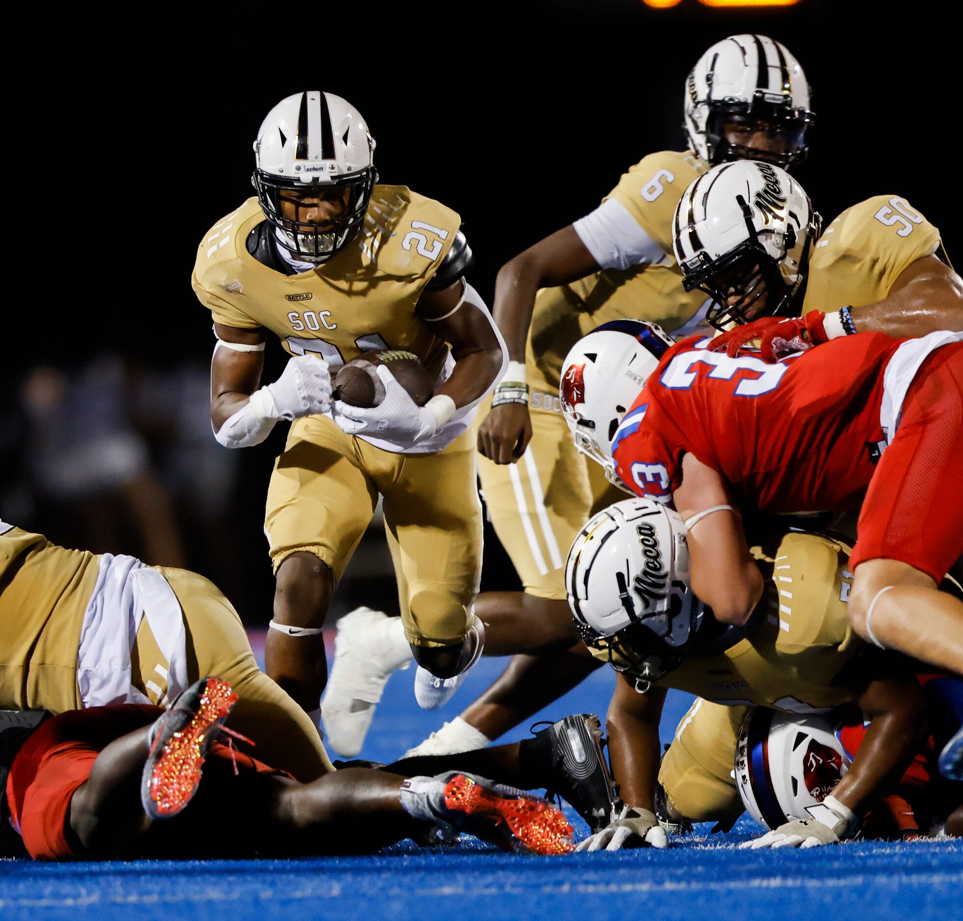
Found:
[[[236,701],[226,681],[202,678],[167,711],[93,707],[34,729],[20,740],[6,784],[10,824],[27,852],[36,859],[371,854],[432,827],[523,853],[571,849],[572,827],[557,806],[462,772],[405,777],[350,768],[299,783],[229,748],[233,733],[222,724]]]

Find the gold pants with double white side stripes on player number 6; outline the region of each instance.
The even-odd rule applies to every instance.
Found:
[[[517,463],[494,464],[479,454],[481,493],[525,591],[564,599],[565,557],[580,528],[627,497],[579,453],[561,412],[535,409],[536,399],[547,402],[551,395],[533,395],[532,441]],[[480,422],[490,408],[489,397],[479,408]]]

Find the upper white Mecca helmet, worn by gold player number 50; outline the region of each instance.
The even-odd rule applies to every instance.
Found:
[[[706,319],[726,329],[798,313],[820,227],[809,195],[785,169],[742,160],[713,166],[683,192],[672,248],[686,291],[709,294]]]

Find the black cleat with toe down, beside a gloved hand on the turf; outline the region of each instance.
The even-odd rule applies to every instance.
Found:
[[[605,737],[599,718],[594,713],[566,716],[534,736],[551,745],[552,782],[548,788],[586,820],[593,834],[604,829],[621,803],[603,751]]]

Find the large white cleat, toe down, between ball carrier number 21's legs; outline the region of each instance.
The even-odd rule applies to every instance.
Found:
[[[325,740],[335,752],[354,757],[361,751],[384,685],[410,661],[400,618],[358,607],[338,621],[334,662],[321,699]]]

